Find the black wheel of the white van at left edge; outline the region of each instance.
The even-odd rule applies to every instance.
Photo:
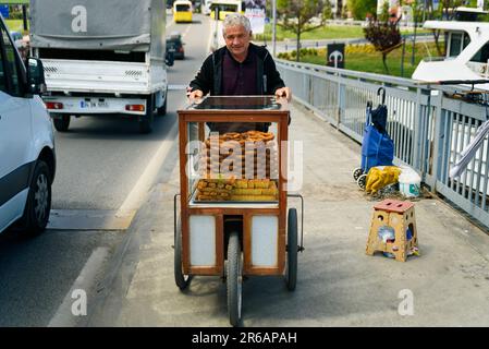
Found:
[[[28,234],[46,230],[51,212],[51,173],[48,165],[38,160],[30,179],[27,202],[20,227]]]

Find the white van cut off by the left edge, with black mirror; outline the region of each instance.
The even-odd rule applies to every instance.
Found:
[[[46,229],[56,173],[54,133],[40,94],[42,63],[21,58],[0,15],[0,232]]]

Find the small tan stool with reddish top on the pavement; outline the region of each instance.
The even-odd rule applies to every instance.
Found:
[[[379,238],[379,228],[382,226],[394,229],[394,242],[383,242]],[[412,238],[408,241],[407,229],[412,232]],[[417,246],[418,237],[413,203],[389,198],[374,206],[374,217],[366,249],[368,255],[374,255],[376,251],[388,252],[394,254],[396,261],[405,262],[408,252]]]

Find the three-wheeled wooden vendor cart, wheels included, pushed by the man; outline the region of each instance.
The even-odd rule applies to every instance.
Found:
[[[286,209],[286,141],[290,111],[286,101],[277,100],[272,96],[240,96],[207,97],[199,104],[179,110],[178,113],[181,192],[175,195],[174,201],[175,282],[183,290],[195,275],[225,278],[230,323],[235,326],[241,320],[243,276],[285,275],[289,290],[295,289],[297,252],[303,251],[303,239],[301,238],[298,245],[296,209],[290,208],[289,213]],[[280,169],[277,178],[270,179],[270,186],[277,188],[277,200],[198,200],[204,197],[197,194],[201,173],[192,173],[199,155],[196,155],[195,146],[190,146],[190,142],[209,140],[210,128],[219,129],[224,125],[223,122],[243,123],[242,127],[245,128],[270,124],[269,134],[273,133],[274,136],[277,165]],[[204,146],[205,143],[200,144]],[[267,172],[268,174],[270,173]],[[262,182],[268,183],[267,180]],[[258,185],[260,181],[252,179],[249,184],[246,184],[245,180],[241,182],[245,185]],[[230,191],[237,192],[235,189]],[[297,194],[289,196],[302,200]],[[253,197],[256,200],[260,196]]]

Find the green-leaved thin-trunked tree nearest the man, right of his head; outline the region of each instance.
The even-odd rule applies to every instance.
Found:
[[[301,61],[301,35],[325,25],[331,16],[329,0],[278,0],[278,23],[282,28],[293,32],[297,38],[296,61]]]

